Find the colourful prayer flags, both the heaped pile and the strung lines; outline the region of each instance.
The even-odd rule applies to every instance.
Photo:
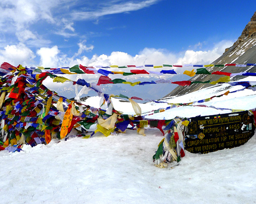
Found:
[[[191,64],[189,64],[190,66]],[[227,64],[225,66],[233,66],[234,64]],[[252,66],[252,65],[251,65]],[[95,67],[95,68],[94,68]],[[134,110],[135,116],[123,115],[115,110],[113,103],[111,102],[112,95],[107,95],[101,92],[97,88],[96,83],[87,83],[84,79],[78,79],[76,82],[71,81],[65,77],[59,77],[56,74],[95,74],[100,73],[97,85],[108,84],[108,83],[125,83],[134,85],[145,85],[145,84],[156,84],[156,83],[174,83],[178,85],[190,85],[192,83],[210,83],[207,82],[191,82],[191,81],[180,81],[172,82],[171,80],[157,80],[156,82],[127,82],[123,79],[111,79],[109,74],[121,74],[123,76],[128,76],[131,74],[176,74],[174,70],[165,70],[160,72],[152,72],[147,70],[131,70],[131,72],[120,72],[120,71],[110,71],[112,68],[126,68],[128,66],[119,67],[117,65],[111,65],[108,67],[103,66],[94,66],[94,67],[85,67],[82,65],[75,65],[71,68],[62,67],[62,68],[42,68],[37,67],[30,69],[19,65],[14,67],[10,64],[4,63],[0,67],[0,75],[4,74],[5,77],[0,77],[0,127],[2,135],[6,135],[0,139],[0,149],[8,149],[9,151],[19,151],[20,145],[29,144],[32,147],[37,144],[48,144],[53,138],[64,139],[68,137],[68,134],[72,129],[77,131],[81,135],[87,134],[86,138],[93,136],[97,132],[108,136],[114,131],[124,132],[126,128],[130,125],[132,128],[137,127],[137,132],[139,134],[145,135],[144,128],[149,126],[157,127],[163,134],[162,127],[170,127],[171,122],[167,120],[154,120],[148,121],[145,119],[145,113],[141,116],[141,108],[138,103],[133,100],[142,100],[139,97],[133,96],[128,98],[124,95],[119,95],[117,97],[127,98]],[[154,66],[153,64],[135,66],[131,65],[129,68],[161,68],[161,67],[182,67],[182,65],[159,65]],[[202,67],[202,65],[194,64],[193,67]],[[100,68],[100,69],[96,69]],[[104,70],[109,69],[109,70]],[[202,68],[204,69],[204,68]],[[46,70],[46,71],[45,71]],[[206,70],[206,69],[204,69]],[[1,74],[2,73],[2,74]],[[184,72],[190,76],[195,75],[195,71],[192,70],[190,73]],[[200,73],[200,69],[197,69],[197,73]],[[242,85],[243,89],[253,88],[255,83],[252,82],[239,82],[239,83],[230,83],[231,73],[228,72],[213,72],[212,74],[224,74],[225,77],[221,77],[218,81],[213,83],[229,83],[230,85]],[[248,76],[254,76],[254,73],[236,73],[237,75],[246,74]],[[83,86],[83,93],[87,93],[89,89],[95,90],[99,96],[102,96],[101,108],[93,108],[87,105],[82,105],[79,102],[79,97],[76,98],[77,102],[70,101],[69,99],[58,96],[57,93],[47,89],[42,84],[42,81],[47,77],[53,78],[54,82],[64,83],[64,82],[73,82],[73,84]],[[237,90],[236,90],[237,91]],[[236,92],[234,91],[234,92]],[[80,93],[80,92],[79,92]],[[79,96],[77,91],[77,96]],[[231,92],[232,93],[232,92]],[[228,95],[229,92],[224,93],[223,95]],[[220,96],[223,96],[220,95]],[[6,97],[8,96],[8,97]],[[159,108],[157,110],[150,111],[148,115],[160,113],[171,108],[179,107],[182,105],[188,106],[203,106],[198,103],[210,101],[214,97],[208,99],[203,99],[197,101],[197,104],[194,102],[187,104],[170,104],[167,108]],[[85,109],[84,109],[85,108]],[[216,108],[209,106],[209,108]],[[225,108],[217,108],[225,109]],[[155,124],[154,124],[155,123]],[[179,122],[178,122],[179,123]],[[96,124],[97,128],[93,133],[90,133],[88,136],[88,129]],[[186,125],[186,123],[182,123]],[[175,127],[177,129],[177,127]],[[175,129],[174,128],[174,129]],[[176,146],[175,151],[172,150],[174,144],[170,144],[167,147],[171,155],[175,159],[179,160],[183,155],[183,143],[180,140],[177,140],[177,134],[179,130],[176,130]],[[175,141],[174,140],[174,141]],[[164,143],[165,144],[165,143]]]

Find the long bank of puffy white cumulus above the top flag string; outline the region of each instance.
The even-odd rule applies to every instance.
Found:
[[[222,55],[225,48],[232,45],[231,41],[221,41],[207,51],[187,50],[182,53],[172,53],[165,49],[144,48],[137,55],[132,56],[126,52],[114,51],[109,56],[94,54],[89,58],[86,55],[81,56],[83,51],[92,51],[93,45],[85,45],[86,41],[78,44],[78,51],[73,57],[67,57],[61,53],[57,46],[52,48],[40,48],[37,54],[40,56],[42,66],[74,66],[83,64],[85,66],[124,66],[129,64],[210,64]],[[81,56],[81,57],[79,57]]]

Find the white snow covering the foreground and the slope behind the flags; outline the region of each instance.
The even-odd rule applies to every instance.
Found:
[[[165,98],[162,101],[195,102],[225,93],[227,85]],[[241,86],[230,90],[241,89]],[[97,107],[100,99],[86,103]],[[256,95],[245,89],[215,97],[207,106],[255,108]],[[128,102],[113,99],[114,107],[134,114]],[[141,104],[142,112],[170,106],[167,103]],[[170,119],[179,116],[214,115],[215,108],[169,109],[151,115]],[[148,116],[149,117],[149,116]],[[24,146],[20,153],[0,151],[1,204],[242,204],[256,203],[256,136],[246,144],[208,154],[192,154],[166,169],[154,166],[152,156],[162,140],[161,132],[148,128],[146,136],[134,130],[108,137],[100,133],[83,139],[52,140],[48,145]]]

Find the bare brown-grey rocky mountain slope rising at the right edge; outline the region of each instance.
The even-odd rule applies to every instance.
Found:
[[[221,57],[216,59],[212,64],[254,64],[256,63],[256,12],[250,19],[249,23],[245,26],[241,36],[231,47],[225,49],[225,52]],[[256,72],[256,66],[236,67],[236,66],[225,66],[225,67],[209,67],[209,72],[223,71],[231,73],[239,73],[243,71]],[[224,76],[224,75],[223,75]],[[195,75],[190,81],[216,81],[222,76],[218,75]],[[231,81],[243,78],[244,76],[231,77]],[[198,89],[206,88],[211,84],[195,83],[190,86],[182,87],[178,86],[167,96],[183,95],[189,92],[196,91]]]

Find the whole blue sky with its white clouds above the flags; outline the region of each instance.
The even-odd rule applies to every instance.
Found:
[[[255,0],[1,0],[0,61],[210,63],[241,35],[255,7]]]

